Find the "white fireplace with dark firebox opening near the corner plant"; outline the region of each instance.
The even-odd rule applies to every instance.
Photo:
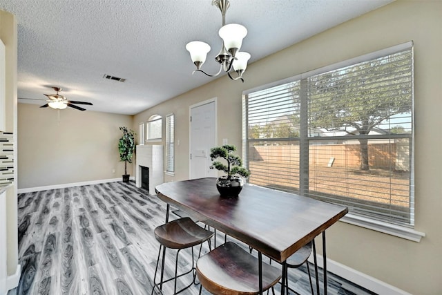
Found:
[[[142,186],[142,166],[148,168],[149,193],[155,194],[155,187],[164,182],[164,157],[162,144],[138,145],[136,151],[135,185]]]

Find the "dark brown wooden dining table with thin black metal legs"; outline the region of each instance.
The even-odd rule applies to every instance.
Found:
[[[157,197],[206,225],[222,231],[282,263],[323,235],[324,292],[327,294],[325,230],[345,216],[347,207],[256,185],[245,184],[238,198],[223,198],[216,178],[166,182]],[[316,250],[314,251],[316,260]],[[282,281],[284,277],[282,278]],[[318,288],[318,280],[316,280]],[[319,289],[319,288],[318,288]],[[281,294],[285,286],[282,284]]]

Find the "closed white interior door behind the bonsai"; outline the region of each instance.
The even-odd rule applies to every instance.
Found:
[[[190,107],[190,179],[217,177],[215,169],[210,169],[210,149],[216,146],[216,99],[211,99]]]

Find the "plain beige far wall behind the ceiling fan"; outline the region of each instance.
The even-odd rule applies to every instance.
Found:
[[[119,126],[132,116],[18,105],[19,189],[122,177]]]

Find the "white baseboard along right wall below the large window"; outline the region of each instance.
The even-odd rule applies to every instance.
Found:
[[[318,256],[318,267],[323,267],[323,256]],[[309,257],[309,262],[314,263],[313,255]],[[360,285],[365,289],[369,289],[370,291],[379,294],[379,295],[412,295],[408,292],[405,292],[397,287],[394,287],[390,284],[383,282],[382,280],[378,280],[377,278],[373,278],[363,272],[358,272],[356,269],[352,269],[351,267],[347,267],[341,263],[338,263],[334,260],[327,258],[327,272],[331,272],[332,274],[336,274],[346,280],[349,280],[356,285]]]

